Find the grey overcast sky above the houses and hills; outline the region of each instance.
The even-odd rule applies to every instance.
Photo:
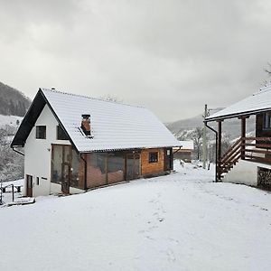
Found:
[[[148,107],[164,122],[257,90],[270,0],[0,0],[0,81]]]

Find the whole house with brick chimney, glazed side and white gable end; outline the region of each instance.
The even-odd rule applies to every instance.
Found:
[[[39,89],[11,146],[24,149],[24,195],[39,196],[170,172],[179,145],[143,107]]]

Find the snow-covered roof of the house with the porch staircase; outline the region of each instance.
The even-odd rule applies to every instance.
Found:
[[[237,103],[206,117],[207,121],[238,117],[242,115],[255,114],[271,109],[271,84],[259,89],[256,93],[244,98]]]

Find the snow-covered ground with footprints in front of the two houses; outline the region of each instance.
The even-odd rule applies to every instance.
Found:
[[[0,270],[270,270],[271,194],[177,170],[0,208]]]

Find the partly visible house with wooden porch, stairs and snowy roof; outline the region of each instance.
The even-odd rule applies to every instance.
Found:
[[[256,135],[246,136],[248,117],[256,117]],[[221,155],[223,121],[237,117],[240,136],[229,150]],[[210,126],[217,123],[217,129]],[[216,134],[216,181],[244,183],[271,188],[271,85],[255,94],[206,117],[205,124]]]

